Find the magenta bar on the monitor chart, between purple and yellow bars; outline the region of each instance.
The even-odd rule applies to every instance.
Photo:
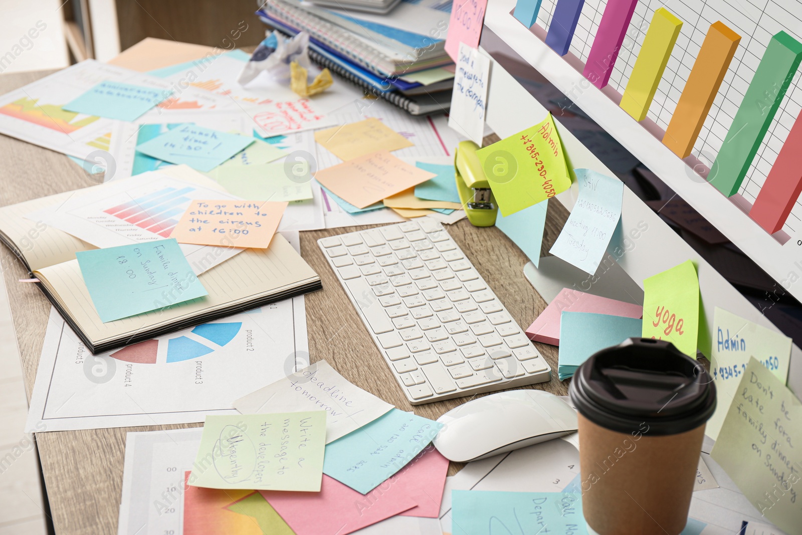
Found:
[[[599,89],[605,87],[610,80],[618,51],[621,50],[626,29],[630,27],[630,20],[637,4],[638,0],[607,2],[602,22],[599,22],[596,32],[596,39],[593,39],[593,47],[590,47],[585,70],[582,71],[582,75]]]

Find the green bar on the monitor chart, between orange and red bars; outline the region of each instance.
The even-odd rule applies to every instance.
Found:
[[[768,42],[707,176],[707,181],[727,197],[738,193],[800,61],[802,43],[784,31]]]

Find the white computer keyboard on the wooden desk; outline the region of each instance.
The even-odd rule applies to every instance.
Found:
[[[318,240],[410,403],[551,379],[551,367],[438,221]]]

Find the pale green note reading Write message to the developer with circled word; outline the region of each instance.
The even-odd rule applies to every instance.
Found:
[[[189,484],[319,492],[326,411],[206,416]]]

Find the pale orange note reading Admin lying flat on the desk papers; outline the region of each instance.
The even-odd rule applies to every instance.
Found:
[[[340,160],[411,147],[407,138],[374,118],[314,132],[314,140]]]

